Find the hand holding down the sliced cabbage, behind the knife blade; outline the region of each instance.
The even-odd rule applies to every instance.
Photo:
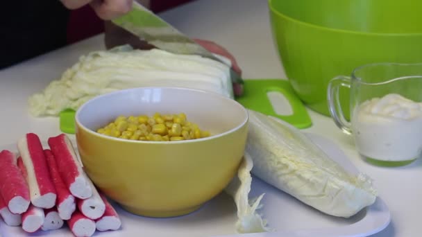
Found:
[[[242,75],[242,70],[237,64],[235,57],[230,52],[228,52],[227,49],[224,49],[223,46],[220,46],[219,44],[216,44],[209,40],[194,39],[194,41],[197,44],[201,44],[201,46],[203,46],[205,49],[207,49],[211,53],[215,53],[215,54],[228,58],[232,62],[233,71],[239,73],[239,75]],[[243,85],[233,83],[233,92],[235,93],[235,96],[242,96]]]

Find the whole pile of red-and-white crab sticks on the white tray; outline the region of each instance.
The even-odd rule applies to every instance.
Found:
[[[117,212],[83,171],[65,134],[48,139],[26,134],[19,154],[0,152],[0,216],[24,231],[60,229],[67,222],[75,236],[121,227]]]

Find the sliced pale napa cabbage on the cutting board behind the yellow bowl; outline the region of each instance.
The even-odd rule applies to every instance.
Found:
[[[34,116],[57,116],[110,91],[167,86],[214,91],[233,98],[230,67],[199,55],[119,46],[81,56],[79,61],[28,100]]]

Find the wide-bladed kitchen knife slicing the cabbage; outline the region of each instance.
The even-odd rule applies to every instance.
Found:
[[[151,10],[144,8],[137,1],[133,1],[132,10],[121,17],[113,19],[112,22],[158,49],[178,54],[201,55],[204,58],[227,64],[227,62],[210,53],[210,51],[194,42],[194,40],[180,33],[176,28],[151,12]],[[233,83],[244,83],[239,73],[231,68],[230,78]]]

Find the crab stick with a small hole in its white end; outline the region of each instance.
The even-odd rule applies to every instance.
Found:
[[[98,191],[96,191],[94,184],[92,184],[92,181],[89,178],[87,178],[87,180],[91,186],[92,196],[84,200],[78,200],[78,209],[87,218],[95,220],[103,216],[105,211],[105,204],[101,199]]]

